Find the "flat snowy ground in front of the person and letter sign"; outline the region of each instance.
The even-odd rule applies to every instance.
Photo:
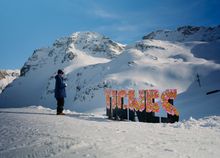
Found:
[[[220,157],[220,116],[151,124],[65,112],[1,108],[0,157]]]

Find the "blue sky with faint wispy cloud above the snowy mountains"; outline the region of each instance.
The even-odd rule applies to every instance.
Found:
[[[0,69],[76,31],[132,43],[157,29],[220,24],[219,0],[0,0]]]

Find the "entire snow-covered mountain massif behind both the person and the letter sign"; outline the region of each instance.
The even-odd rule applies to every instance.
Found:
[[[186,30],[190,33],[183,33]],[[205,30],[209,32],[205,34]],[[206,91],[219,85],[220,74],[216,73],[220,70],[219,37],[219,26],[187,26],[175,31],[157,31],[125,46],[97,33],[78,32],[57,40],[52,47],[36,50],[21,69],[21,77],[0,95],[0,107],[56,108],[54,75],[62,68],[68,84],[67,109],[104,110],[104,88],[160,91],[176,88],[179,97],[175,103],[182,118],[219,115],[216,107],[197,115],[207,104],[195,105],[207,97]],[[202,88],[195,82],[197,75]],[[219,100],[219,94],[216,95],[213,104]],[[197,113],[188,112],[193,107]]]

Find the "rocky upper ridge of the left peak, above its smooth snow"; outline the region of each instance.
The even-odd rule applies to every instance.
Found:
[[[21,68],[21,76],[24,76],[30,69],[35,70],[46,64],[66,65],[82,55],[112,59],[124,48],[125,45],[114,42],[101,34],[76,32],[69,37],[57,39],[52,47],[36,49]]]

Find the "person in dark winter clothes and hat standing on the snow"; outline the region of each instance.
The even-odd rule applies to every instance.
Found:
[[[64,106],[64,98],[66,97],[66,86],[67,84],[63,82],[63,74],[62,70],[57,71],[57,75],[55,76],[55,98],[57,100],[57,115],[65,115],[63,113]]]

